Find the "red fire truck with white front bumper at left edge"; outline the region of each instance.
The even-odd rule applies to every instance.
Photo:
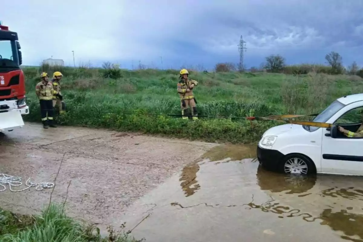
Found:
[[[29,114],[18,34],[0,21],[0,132],[23,127]]]

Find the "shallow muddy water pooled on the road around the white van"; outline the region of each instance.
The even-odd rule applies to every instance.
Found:
[[[254,154],[253,146],[212,148],[123,221],[133,228],[147,216],[133,230],[147,241],[363,241],[361,177],[285,176]]]

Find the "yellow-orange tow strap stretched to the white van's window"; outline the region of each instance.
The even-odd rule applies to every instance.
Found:
[[[307,114],[307,115],[295,115],[295,114],[286,114],[286,115],[270,115],[266,117],[247,117],[248,120],[273,120],[278,122],[285,122],[290,124],[299,124],[320,128],[330,128],[333,126],[331,123],[321,123],[321,122],[313,122],[313,121],[299,121],[299,120],[291,120],[292,118],[301,118],[305,116],[317,116],[318,114]]]

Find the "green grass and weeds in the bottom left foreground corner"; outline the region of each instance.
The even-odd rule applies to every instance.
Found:
[[[67,217],[57,204],[37,216],[13,214],[0,208],[1,242],[140,242],[128,233],[115,233],[111,227],[109,233],[101,238],[97,227],[84,226]]]

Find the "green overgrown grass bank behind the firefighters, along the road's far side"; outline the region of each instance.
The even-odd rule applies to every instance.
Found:
[[[39,122],[35,85],[49,66],[25,68],[30,114]],[[199,115],[229,116],[231,119],[201,118],[197,122],[151,114],[180,115],[176,93],[177,70],[120,70],[56,68],[64,74],[62,94],[69,112],[62,124],[142,131],[188,139],[250,143],[257,141],[276,122],[253,122],[233,117],[271,114],[309,114],[321,111],[334,99],[362,93],[362,78],[348,75],[309,74],[293,76],[273,73],[192,72]],[[116,77],[105,78],[108,74]],[[112,76],[111,76],[112,77]],[[110,113],[107,113],[110,112]],[[111,113],[113,112],[113,113]],[[117,114],[117,112],[141,115]]]

